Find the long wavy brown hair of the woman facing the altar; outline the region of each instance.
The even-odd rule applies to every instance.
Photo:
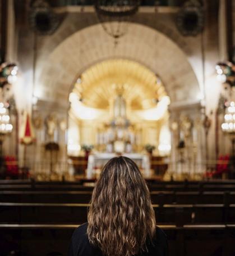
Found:
[[[150,194],[137,165],[120,156],[108,161],[91,197],[87,235],[107,256],[148,251],[155,234]]]

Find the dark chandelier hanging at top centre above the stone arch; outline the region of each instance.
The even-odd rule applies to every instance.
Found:
[[[136,14],[140,5],[139,0],[96,0],[95,11],[104,31],[114,38],[127,33],[127,24]]]

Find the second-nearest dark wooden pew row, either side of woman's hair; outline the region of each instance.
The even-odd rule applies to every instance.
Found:
[[[0,203],[1,223],[82,223],[89,204]],[[158,223],[235,223],[235,204],[153,205]]]

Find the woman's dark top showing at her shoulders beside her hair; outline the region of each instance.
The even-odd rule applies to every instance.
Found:
[[[104,256],[99,248],[90,245],[87,237],[87,223],[77,227],[73,232],[68,256]],[[148,252],[136,256],[168,256],[167,236],[156,228],[153,244],[148,246]]]

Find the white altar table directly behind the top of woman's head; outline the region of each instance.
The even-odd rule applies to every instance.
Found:
[[[99,168],[102,169],[104,165],[111,159],[116,156],[119,156],[115,153],[97,153],[97,154],[90,154],[88,158],[87,164],[87,178],[91,178],[95,176],[95,169]],[[130,154],[122,154],[122,156],[126,156],[127,158],[132,159],[138,165],[140,169],[143,170],[143,174],[145,177],[150,176],[150,160],[149,155],[147,154],[137,154],[137,153],[130,153]]]

